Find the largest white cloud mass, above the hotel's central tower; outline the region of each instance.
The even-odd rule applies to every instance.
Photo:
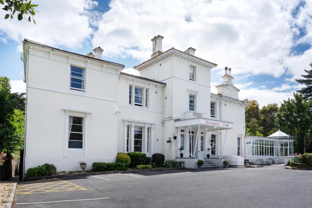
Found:
[[[98,22],[92,43],[103,46],[105,56],[147,60],[152,53],[150,39],[160,34],[165,37],[163,51],[172,46],[194,47],[196,56],[220,65],[217,73],[223,73],[227,65],[240,78],[248,74],[279,77],[285,68],[293,72],[294,66],[285,61],[296,44],[295,25],[311,19],[310,3],[292,17],[299,2],[113,0]]]

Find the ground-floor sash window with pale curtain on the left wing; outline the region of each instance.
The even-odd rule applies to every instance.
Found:
[[[68,124],[68,148],[83,149],[84,119],[77,116],[69,116]]]

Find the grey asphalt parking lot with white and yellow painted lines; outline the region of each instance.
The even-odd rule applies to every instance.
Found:
[[[311,207],[312,171],[161,170],[17,185],[14,207]]]

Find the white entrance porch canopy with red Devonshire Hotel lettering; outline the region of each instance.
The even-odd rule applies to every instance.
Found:
[[[205,128],[205,130],[208,131],[227,130],[233,128],[233,123],[205,118],[193,118],[175,121],[175,127],[190,127],[196,129],[199,126],[200,128]]]

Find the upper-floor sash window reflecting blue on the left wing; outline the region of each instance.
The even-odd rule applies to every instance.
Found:
[[[71,66],[71,89],[85,91],[85,69]]]

